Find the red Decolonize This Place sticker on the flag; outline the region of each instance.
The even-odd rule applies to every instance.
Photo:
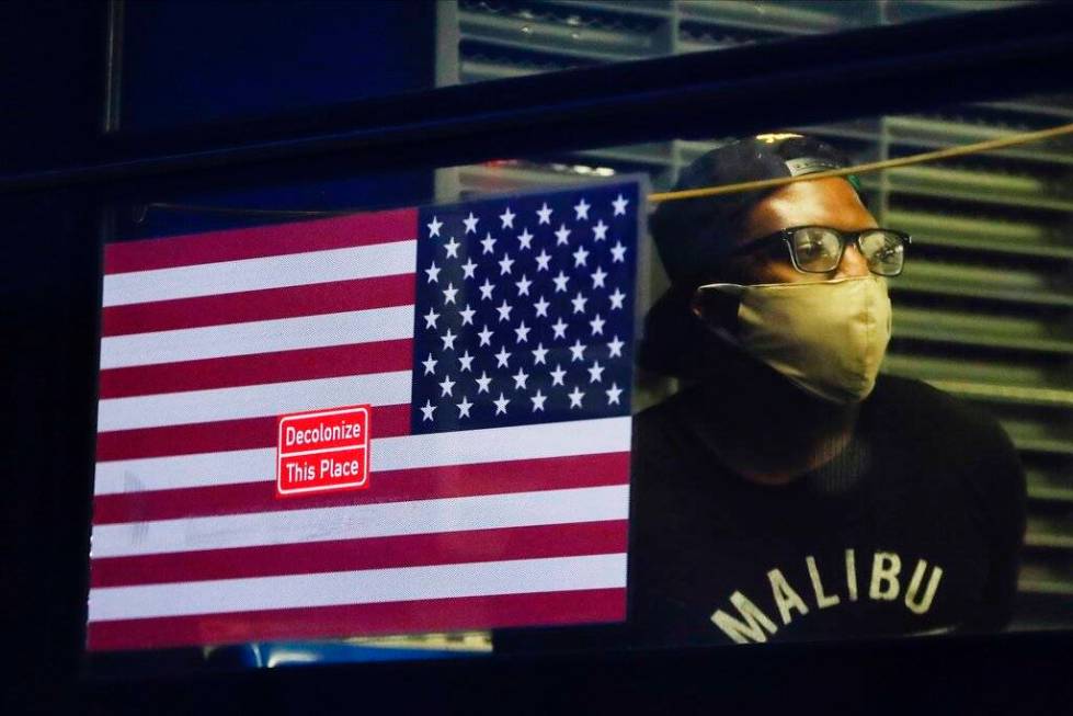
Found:
[[[281,416],[276,497],[369,486],[372,406]]]

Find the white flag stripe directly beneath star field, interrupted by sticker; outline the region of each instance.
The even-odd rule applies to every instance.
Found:
[[[621,453],[630,448],[630,418],[489,428],[430,435],[376,436],[373,410],[370,471],[511,459]],[[237,485],[275,479],[274,447],[98,463],[96,495]]]

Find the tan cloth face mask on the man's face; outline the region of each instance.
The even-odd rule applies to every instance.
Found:
[[[803,390],[864,400],[890,341],[887,282],[875,275],[817,283],[709,284],[739,298],[738,331],[717,330]]]

